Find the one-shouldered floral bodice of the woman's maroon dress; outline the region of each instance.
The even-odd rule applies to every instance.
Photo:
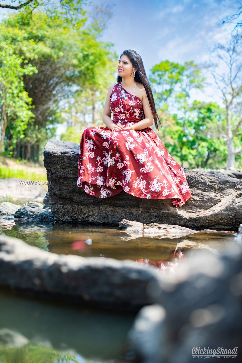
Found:
[[[115,83],[110,95],[110,110],[113,121],[127,122],[141,121],[143,119],[143,105],[138,96],[128,93],[122,86],[121,81]]]

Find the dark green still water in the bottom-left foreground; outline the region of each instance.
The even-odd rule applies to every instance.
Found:
[[[133,319],[0,292],[0,362],[116,362]]]

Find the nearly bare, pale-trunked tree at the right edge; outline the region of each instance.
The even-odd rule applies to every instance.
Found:
[[[234,167],[235,156],[242,151],[242,37],[231,35],[228,44],[214,43],[210,61],[205,63],[226,110],[227,168]],[[211,84],[213,86],[213,84]],[[237,144],[237,145],[235,145]]]

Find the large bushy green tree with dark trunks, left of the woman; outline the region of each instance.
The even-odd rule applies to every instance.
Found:
[[[113,80],[113,59],[117,56],[110,50],[113,44],[99,41],[101,29],[96,30],[95,24],[75,29],[61,15],[50,18],[35,12],[33,19],[26,20],[24,11],[4,21],[0,31],[5,43],[38,70],[37,74],[24,76],[35,115],[33,127],[28,126],[22,140],[28,148],[30,144],[43,144],[53,126],[63,122],[62,111],[73,110],[83,95],[90,103],[92,122],[99,122],[97,115],[105,89]],[[8,131],[13,146],[16,133],[10,126]]]

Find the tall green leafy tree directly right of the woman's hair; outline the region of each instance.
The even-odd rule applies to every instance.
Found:
[[[162,136],[169,134],[172,141],[172,145],[165,143],[165,146],[179,158],[181,166],[184,161],[193,164],[196,150],[192,148],[194,130],[190,93],[194,89],[203,89],[204,77],[199,66],[193,61],[184,65],[162,61],[151,69],[150,82],[155,89],[155,102],[166,120]]]

